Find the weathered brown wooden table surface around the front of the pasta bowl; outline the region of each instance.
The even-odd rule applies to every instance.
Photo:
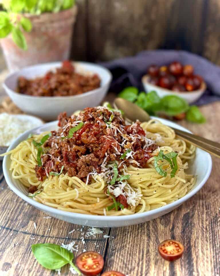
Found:
[[[185,121],[180,124],[220,142],[220,102],[203,106],[201,110],[207,118],[206,124]],[[220,159],[213,157],[212,160],[213,169],[207,183],[174,211],[139,225],[104,228],[104,233],[95,237],[85,237],[89,227],[80,231],[79,225],[45,218],[47,214],[16,196],[5,182],[1,162],[0,275],[58,275],[38,264],[31,245],[72,241],[78,246],[75,256],[83,249],[98,251],[104,256],[105,270],[114,269],[129,276],[220,275]],[[72,230],[75,231],[69,233]],[[82,236],[85,244],[80,239]],[[157,251],[158,244],[170,238],[185,246],[183,257],[175,262],[163,260]],[[72,275],[68,265],[62,268],[61,275]]]

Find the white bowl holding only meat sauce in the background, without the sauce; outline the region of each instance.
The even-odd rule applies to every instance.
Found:
[[[104,99],[111,83],[111,72],[100,65],[89,62],[75,62],[74,66],[82,74],[98,74],[101,79],[101,86],[80,95],[64,97],[36,97],[16,92],[19,76],[36,78],[44,76],[49,70],[61,67],[61,62],[52,62],[28,66],[9,74],[3,83],[3,88],[21,110],[46,121],[56,120],[60,112],[63,111],[66,111],[67,115],[70,116],[76,110],[98,106]]]

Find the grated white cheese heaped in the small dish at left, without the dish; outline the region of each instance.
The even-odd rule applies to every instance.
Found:
[[[8,147],[22,133],[27,130],[38,127],[39,123],[31,122],[27,119],[21,119],[16,115],[0,114],[0,146]]]

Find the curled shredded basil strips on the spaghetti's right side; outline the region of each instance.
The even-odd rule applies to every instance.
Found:
[[[171,173],[170,173],[170,177],[174,177],[175,173],[178,169],[177,166],[177,161],[176,161],[176,157],[177,157],[177,153],[176,152],[169,152],[167,154],[164,154],[164,152],[162,150],[160,150],[158,156],[154,156],[154,168],[155,170],[162,176],[166,177],[167,173],[163,170],[162,165],[158,165],[158,161],[159,160],[166,160],[169,162],[170,167],[171,167]]]

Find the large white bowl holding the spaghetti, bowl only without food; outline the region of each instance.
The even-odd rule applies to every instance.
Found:
[[[152,117],[156,118],[156,117]],[[175,127],[177,129],[188,131],[184,127],[175,124],[174,122],[170,122],[165,119],[159,118],[159,120],[170,127]],[[30,133],[40,134],[44,131],[52,131],[57,129],[57,121],[50,122],[42,125],[41,127],[35,128],[31,131],[26,131],[23,135],[17,138],[14,143],[9,147],[8,150],[12,150],[15,148],[21,141],[27,139]],[[58,210],[56,208],[52,208],[46,206],[42,203],[36,202],[34,199],[28,197],[28,189],[25,188],[18,179],[12,178],[12,173],[9,170],[10,168],[10,156],[5,156],[3,160],[3,172],[5,175],[5,179],[9,187],[23,200],[35,206],[37,209],[47,213],[50,216],[61,219],[63,221],[68,221],[70,223],[78,224],[78,225],[86,225],[86,226],[94,226],[94,227],[121,227],[128,226],[138,223],[144,223],[146,221],[150,221],[159,216],[163,216],[168,212],[171,212],[173,209],[180,206],[186,200],[191,198],[195,193],[197,193],[205,184],[212,169],[212,159],[209,153],[197,148],[196,157],[193,162],[190,164],[190,170],[188,171],[190,174],[197,176],[197,181],[192,187],[192,189],[182,198],[162,206],[160,208],[147,211],[141,214],[132,214],[125,216],[98,216],[98,215],[87,215],[87,214],[78,214],[72,212],[66,212],[62,210]]]

